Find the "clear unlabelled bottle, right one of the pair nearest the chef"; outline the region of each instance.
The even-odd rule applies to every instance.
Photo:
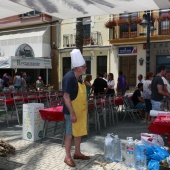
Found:
[[[114,162],[122,161],[122,144],[118,135],[114,136]]]

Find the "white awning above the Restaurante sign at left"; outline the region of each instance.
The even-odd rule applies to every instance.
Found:
[[[22,56],[18,52],[28,50],[26,46],[31,47],[32,57],[50,57],[50,27],[41,26],[1,31],[0,50],[3,51],[1,56]]]

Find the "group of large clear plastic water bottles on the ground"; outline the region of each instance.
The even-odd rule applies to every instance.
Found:
[[[141,141],[134,142],[132,137],[127,137],[125,144],[125,165],[137,170],[145,170],[146,156],[145,145]],[[118,135],[107,134],[104,144],[104,157],[106,161],[121,162],[122,144]]]

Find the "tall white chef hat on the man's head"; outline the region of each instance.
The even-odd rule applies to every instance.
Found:
[[[80,67],[86,63],[79,49],[72,50],[70,55],[73,68]]]

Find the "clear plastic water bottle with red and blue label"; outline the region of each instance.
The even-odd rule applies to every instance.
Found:
[[[127,137],[127,143],[125,148],[125,165],[127,167],[135,167],[134,162],[134,149],[135,143],[132,137]]]

